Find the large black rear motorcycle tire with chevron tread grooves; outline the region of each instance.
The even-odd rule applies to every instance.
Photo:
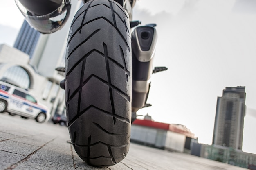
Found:
[[[131,64],[128,14],[112,0],[84,4],[68,37],[65,100],[72,144],[89,165],[112,166],[128,153]]]

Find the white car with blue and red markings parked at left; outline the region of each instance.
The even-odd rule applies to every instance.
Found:
[[[40,105],[28,91],[0,81],[0,112],[5,111],[40,123],[50,117],[49,109]]]

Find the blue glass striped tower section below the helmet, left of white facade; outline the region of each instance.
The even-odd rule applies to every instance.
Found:
[[[31,28],[27,21],[24,20],[13,47],[25,52],[31,58],[36,48],[39,36],[40,33],[34,28]]]

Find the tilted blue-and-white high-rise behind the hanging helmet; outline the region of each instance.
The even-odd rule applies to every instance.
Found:
[[[70,16],[61,30],[52,34],[41,34],[24,20],[20,32],[14,43],[14,48],[29,54],[29,64],[36,68],[38,73],[55,80],[59,75],[56,67],[64,67],[65,48],[70,24],[82,1],[72,1]],[[58,81],[58,80],[57,80]]]

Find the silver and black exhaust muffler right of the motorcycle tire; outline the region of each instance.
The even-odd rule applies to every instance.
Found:
[[[132,112],[145,104],[150,88],[157,33],[153,26],[138,26],[132,32]]]

